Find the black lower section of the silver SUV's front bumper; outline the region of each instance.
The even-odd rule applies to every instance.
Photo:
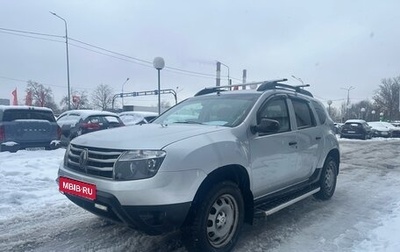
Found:
[[[97,191],[94,201],[65,195],[93,214],[122,222],[148,235],[159,235],[181,227],[191,206],[190,202],[158,206],[122,206],[115,196],[101,191]]]

